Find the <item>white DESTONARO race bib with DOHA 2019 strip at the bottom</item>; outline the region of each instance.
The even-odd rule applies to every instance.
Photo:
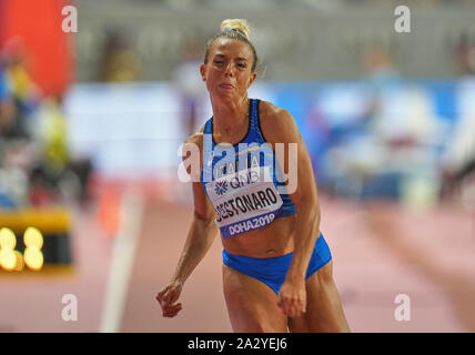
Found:
[[[241,170],[206,184],[223,237],[261,229],[275,219],[282,199],[269,166]]]

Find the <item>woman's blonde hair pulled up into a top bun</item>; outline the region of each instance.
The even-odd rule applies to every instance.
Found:
[[[208,53],[213,42],[218,38],[229,38],[232,40],[242,41],[251,47],[252,53],[254,55],[254,61],[252,62],[251,71],[255,71],[255,65],[257,63],[257,53],[255,52],[254,44],[251,43],[251,30],[247,21],[245,19],[226,19],[221,22],[220,26],[221,33],[214,36],[206,42],[206,48],[204,51],[204,64],[208,63]]]

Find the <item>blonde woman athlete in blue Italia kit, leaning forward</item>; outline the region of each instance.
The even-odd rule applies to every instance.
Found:
[[[200,149],[194,216],[175,273],[156,300],[163,316],[180,312],[183,284],[219,229],[224,297],[234,332],[350,332],[297,125],[286,110],[247,98],[257,61],[249,37],[246,21],[233,19],[224,20],[221,32],[208,41],[200,72],[213,116],[185,142]],[[276,154],[279,143],[285,146],[284,156]],[[277,179],[280,166],[287,171],[292,165],[292,143],[297,164],[289,180],[295,184]],[[267,179],[255,179],[265,172]]]

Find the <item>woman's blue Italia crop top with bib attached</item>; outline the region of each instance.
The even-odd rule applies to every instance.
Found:
[[[234,144],[216,144],[213,118],[203,132],[201,183],[218,216],[215,223],[223,237],[261,229],[296,213],[271,144],[266,143],[259,123],[259,101],[251,99],[250,124],[245,138]],[[277,169],[277,171],[276,171]]]

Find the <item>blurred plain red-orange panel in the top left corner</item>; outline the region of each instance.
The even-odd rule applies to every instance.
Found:
[[[59,100],[73,81],[74,33],[62,31],[61,13],[69,4],[68,0],[0,1],[3,55],[26,57],[27,70],[42,94]]]

